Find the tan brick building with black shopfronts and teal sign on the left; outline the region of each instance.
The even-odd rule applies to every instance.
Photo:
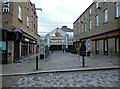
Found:
[[[40,42],[37,34],[38,16],[35,4],[26,1],[2,2],[3,63],[19,62],[22,58],[36,53],[37,44]]]

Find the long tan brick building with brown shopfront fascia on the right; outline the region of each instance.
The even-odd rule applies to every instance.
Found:
[[[120,54],[120,1],[93,2],[73,23],[74,45],[92,40],[96,54]]]

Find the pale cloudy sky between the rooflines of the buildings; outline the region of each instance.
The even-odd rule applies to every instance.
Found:
[[[31,0],[38,15],[38,34],[50,32],[66,25],[73,29],[76,19],[92,4],[93,0]]]

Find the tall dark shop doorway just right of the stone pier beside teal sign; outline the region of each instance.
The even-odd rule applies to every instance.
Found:
[[[19,62],[19,42],[14,42],[14,62]]]

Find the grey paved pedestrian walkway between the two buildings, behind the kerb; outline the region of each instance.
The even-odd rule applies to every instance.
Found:
[[[31,60],[28,60],[28,59]],[[36,55],[28,57],[21,63],[2,65],[2,74],[30,73],[52,70],[66,69],[86,69],[86,68],[103,68],[103,67],[120,67],[118,65],[119,57],[109,57],[104,55],[95,55],[85,58],[85,67],[82,67],[82,57],[77,54],[54,52],[50,55],[49,60],[39,60],[39,70],[35,70]]]

